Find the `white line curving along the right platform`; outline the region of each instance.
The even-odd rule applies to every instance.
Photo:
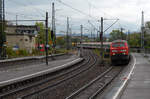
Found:
[[[125,85],[127,84],[127,81],[130,79],[130,77],[131,77],[131,75],[132,75],[132,73],[133,73],[133,70],[134,70],[134,68],[135,68],[135,65],[136,65],[136,58],[135,58],[134,55],[133,55],[133,59],[134,59],[134,64],[133,64],[133,67],[132,67],[132,69],[131,69],[131,71],[130,71],[128,77],[127,77],[127,79],[123,82],[122,86],[119,88],[119,90],[116,92],[116,94],[113,96],[112,99],[117,99],[117,98],[118,98],[120,92],[123,90],[123,88],[124,88]]]

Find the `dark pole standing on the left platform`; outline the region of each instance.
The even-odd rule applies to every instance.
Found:
[[[45,20],[45,28],[46,28],[46,44],[45,44],[45,51],[46,51],[46,65],[48,65],[48,12],[46,12],[46,20]]]

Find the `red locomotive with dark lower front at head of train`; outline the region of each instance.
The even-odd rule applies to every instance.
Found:
[[[129,46],[125,40],[115,40],[110,45],[110,55],[112,63],[129,62]]]

